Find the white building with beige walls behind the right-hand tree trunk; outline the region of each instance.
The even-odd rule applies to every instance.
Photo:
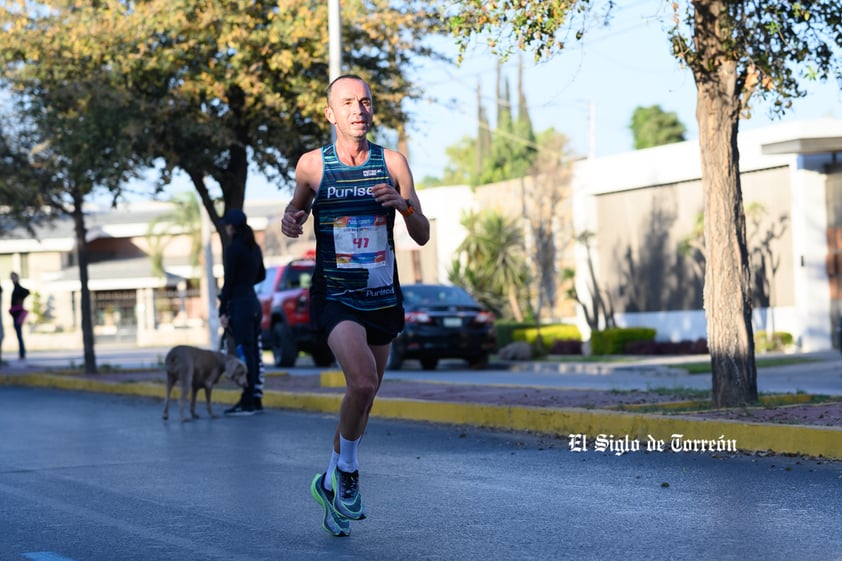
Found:
[[[753,267],[754,329],[791,333],[803,351],[826,350],[842,308],[842,120],[793,122],[739,135],[749,251],[771,235],[771,274]],[[662,340],[706,337],[703,278],[677,251],[702,212],[697,141],[578,162],[575,231],[594,233],[592,259],[620,326]],[[756,255],[759,259],[760,255]],[[590,293],[584,246],[577,289]],[[580,314],[581,316],[581,314]],[[584,317],[583,333],[589,333]]]

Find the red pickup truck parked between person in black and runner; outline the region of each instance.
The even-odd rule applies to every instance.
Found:
[[[330,366],[333,353],[310,325],[310,280],[316,262],[294,259],[266,268],[266,280],[255,287],[263,309],[260,327],[264,349],[271,349],[275,366],[295,366],[300,352],[312,355],[316,366]]]

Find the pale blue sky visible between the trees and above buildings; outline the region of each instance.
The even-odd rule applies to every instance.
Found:
[[[698,138],[693,76],[670,54],[664,27],[672,17],[669,3],[628,0],[618,3],[613,14],[609,27],[591,29],[583,41],[571,40],[547,62],[536,64],[531,55],[524,55],[524,90],[533,128],[537,132],[554,128],[565,134],[575,155],[605,156],[632,149],[629,122],[635,108],[660,105],[678,115],[688,139]],[[441,38],[435,45],[455,59],[455,40]],[[424,91],[422,99],[407,106],[411,117],[407,156],[416,182],[440,177],[447,164],[446,148],[465,136],[476,137],[477,84],[494,126],[496,64],[490,50],[475,41],[459,67],[423,61],[414,71]],[[503,76],[516,92],[517,56],[505,64]],[[377,85],[372,84],[372,89],[376,112]],[[782,119],[771,119],[768,106],[758,104],[751,119],[740,121],[740,130],[775,122],[842,118],[842,84],[816,82],[807,89],[807,97],[795,100]],[[287,197],[289,192],[279,194],[262,177],[250,175],[247,199],[278,196]]]

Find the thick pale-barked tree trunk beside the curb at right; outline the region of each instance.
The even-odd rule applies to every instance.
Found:
[[[702,61],[694,68],[704,191],[704,303],[713,371],[714,407],[757,401],[751,325],[751,272],[740,187],[737,63],[723,45],[729,25],[724,0],[696,0],[695,40]]]

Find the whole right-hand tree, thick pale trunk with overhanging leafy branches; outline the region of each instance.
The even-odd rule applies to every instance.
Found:
[[[536,58],[564,47],[571,15],[587,15],[589,0],[462,0],[445,14],[464,50],[478,35],[492,48],[516,44]],[[613,2],[608,2],[608,12]],[[755,95],[781,114],[801,81],[842,75],[842,11],[837,0],[685,0],[672,3],[673,54],[693,73],[704,191],[706,260],[704,302],[713,370],[713,404],[757,401],[751,325],[751,277],[739,173],[737,132]],[[585,22],[575,29],[585,34]],[[507,38],[512,37],[516,43]],[[503,45],[499,47],[499,45]]]

